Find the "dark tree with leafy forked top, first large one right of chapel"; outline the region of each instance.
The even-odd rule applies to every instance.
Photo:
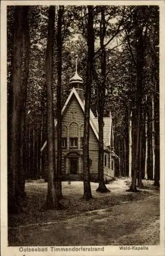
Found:
[[[136,69],[136,87],[134,108],[132,110],[132,181],[128,191],[137,191],[136,179],[139,170],[139,152],[140,152],[140,132],[141,132],[141,114],[142,114],[142,97],[143,97],[143,67],[144,67],[144,51],[146,48],[146,36],[148,30],[146,11],[147,7],[135,7],[132,22],[134,26],[131,30],[131,24],[127,25],[126,36],[131,53],[132,60]],[[134,32],[134,34],[132,33]],[[131,36],[130,36],[131,34]],[[132,39],[133,38],[133,39]],[[131,41],[132,40],[132,41]],[[132,42],[134,40],[134,49]]]

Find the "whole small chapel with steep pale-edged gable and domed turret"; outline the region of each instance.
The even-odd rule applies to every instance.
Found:
[[[84,136],[83,80],[76,72],[69,80],[70,94],[62,109],[62,180],[83,180],[82,143]],[[114,136],[112,117],[104,118],[104,179],[115,176]],[[55,120],[55,152],[57,162],[57,120]],[[90,180],[98,181],[98,119],[90,110]]]

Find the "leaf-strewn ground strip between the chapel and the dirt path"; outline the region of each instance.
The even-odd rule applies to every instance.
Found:
[[[133,200],[142,200],[151,194],[154,195],[158,193],[154,188],[151,190],[142,189],[140,193],[126,192],[128,182],[129,180],[118,179],[107,184],[106,187],[111,191],[105,194],[96,192],[98,183],[91,182],[93,199],[89,201],[82,199],[83,182],[71,182],[70,184],[68,182],[62,182],[62,210],[45,210],[47,183],[40,183],[38,181],[27,182],[25,184],[26,199],[23,202],[23,213],[9,216],[9,226],[14,227],[64,220],[78,216],[83,212],[88,214],[89,211],[107,207],[108,211],[111,211],[111,206],[113,205]]]

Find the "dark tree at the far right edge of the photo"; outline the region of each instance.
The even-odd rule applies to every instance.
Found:
[[[150,7],[150,68],[151,68],[151,101],[152,101],[152,155],[154,185],[159,186],[160,152],[159,152],[159,16],[158,7]]]

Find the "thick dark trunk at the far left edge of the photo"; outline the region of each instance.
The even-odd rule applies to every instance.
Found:
[[[23,7],[15,7],[15,27],[13,38],[13,58],[12,58],[12,111],[10,118],[10,158],[8,166],[8,210],[17,212],[20,208],[20,186],[19,186],[19,132],[20,132],[20,94],[21,94],[21,74],[22,74],[22,25]],[[10,102],[11,103],[11,102]]]

